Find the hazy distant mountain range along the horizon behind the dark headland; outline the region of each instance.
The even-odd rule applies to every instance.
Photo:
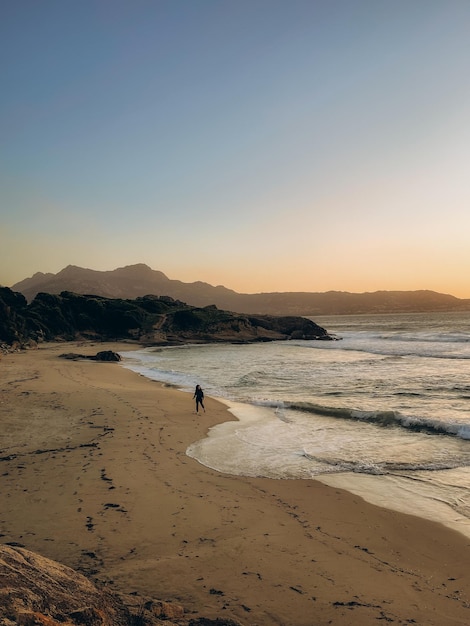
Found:
[[[38,272],[11,287],[28,301],[37,293],[98,295],[133,299],[146,295],[169,296],[192,306],[261,315],[343,315],[470,310],[470,299],[435,291],[375,291],[371,293],[273,292],[237,293],[221,285],[172,280],[163,272],[139,263],[110,271],[69,265],[57,274]]]

